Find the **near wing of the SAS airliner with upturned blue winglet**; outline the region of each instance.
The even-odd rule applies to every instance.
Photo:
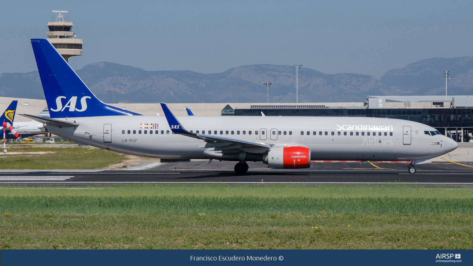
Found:
[[[220,150],[220,149],[217,149],[216,147],[224,147],[224,146],[230,146],[233,148],[233,150],[240,149],[240,148],[259,148],[259,150],[262,150],[261,148],[263,148],[263,150],[266,150],[266,149],[271,148],[271,145],[263,143],[263,142],[250,142],[250,141],[243,141],[243,140],[237,140],[237,139],[232,139],[232,138],[220,137],[216,135],[191,133],[182,126],[182,124],[177,120],[175,115],[171,112],[171,110],[169,110],[166,104],[161,103],[161,107],[163,108],[164,115],[166,115],[167,123],[169,124],[169,127],[171,128],[173,133],[181,134],[181,135],[188,136],[191,138],[200,139],[205,142],[221,143],[221,144],[207,143],[207,144],[201,145],[200,146],[201,148],[215,148],[215,151]]]

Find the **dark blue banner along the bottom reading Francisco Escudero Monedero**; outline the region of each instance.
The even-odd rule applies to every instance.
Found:
[[[472,250],[0,250],[1,266],[472,265]]]

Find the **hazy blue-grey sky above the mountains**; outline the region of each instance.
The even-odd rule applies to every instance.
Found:
[[[46,37],[51,10],[68,10],[84,41],[75,69],[302,64],[379,79],[421,59],[472,55],[473,1],[4,1],[0,73],[36,70],[29,39]]]

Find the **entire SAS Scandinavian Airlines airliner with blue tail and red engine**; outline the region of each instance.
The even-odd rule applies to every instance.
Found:
[[[455,141],[416,122],[369,117],[139,115],[98,100],[46,39],[32,39],[51,118],[47,132],[109,151],[161,159],[246,161],[309,168],[311,160],[408,160],[453,151]]]

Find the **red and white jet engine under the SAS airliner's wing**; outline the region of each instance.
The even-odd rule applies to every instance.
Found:
[[[268,151],[267,159],[269,168],[309,168],[310,149],[298,146],[272,148]]]

